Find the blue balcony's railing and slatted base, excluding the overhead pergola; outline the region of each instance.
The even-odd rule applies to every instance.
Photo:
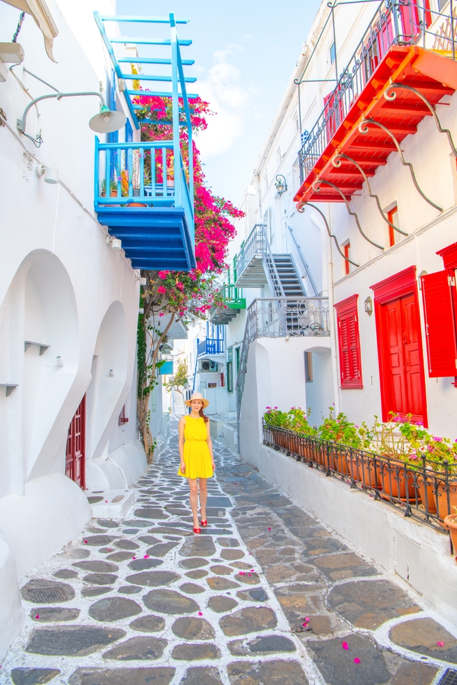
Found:
[[[173,140],[95,139],[95,211],[110,235],[122,240],[134,269],[195,267],[193,201],[181,155],[173,178],[163,173],[167,164],[176,169]]]

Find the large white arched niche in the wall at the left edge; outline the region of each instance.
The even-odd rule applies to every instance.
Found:
[[[0,423],[0,496],[21,493],[28,477],[49,472],[62,442],[59,416],[78,356],[79,326],[69,275],[55,255],[30,253],[0,310],[0,383],[17,384],[9,397],[0,386],[0,421],[5,421]]]

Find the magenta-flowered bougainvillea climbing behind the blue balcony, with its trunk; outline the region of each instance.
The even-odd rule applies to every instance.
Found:
[[[136,73],[136,71],[134,71]],[[173,115],[171,98],[147,95],[147,91],[138,91],[135,103],[142,105],[136,114],[141,125],[142,140],[172,140]],[[182,105],[180,99],[180,105]],[[180,120],[184,121],[181,111]],[[190,101],[191,123],[193,132],[203,131],[208,126],[207,116],[211,116],[207,102],[200,98]],[[152,120],[152,121],[151,121]],[[184,171],[188,169],[189,141],[186,127],[180,127],[180,147]],[[143,436],[145,450],[151,453],[153,439],[148,425],[149,394],[156,384],[156,366],[162,341],[177,317],[184,323],[193,323],[203,319],[214,305],[221,305],[219,280],[227,269],[225,263],[227,248],[234,237],[235,228],[231,220],[243,216],[243,212],[233,204],[217,197],[206,186],[201,159],[195,141],[192,145],[193,180],[194,180],[194,216],[195,216],[195,269],[192,271],[144,271],[147,288],[143,291],[141,305],[144,314],[138,319],[138,427]],[[167,149],[165,162],[162,150],[156,151],[153,160],[156,168],[156,181],[175,179],[173,150]],[[150,161],[149,164],[152,164]],[[163,169],[163,166],[166,169]],[[146,167],[145,167],[146,168]],[[165,329],[157,329],[149,322],[151,316],[170,314]],[[141,367],[141,368],[140,368]]]

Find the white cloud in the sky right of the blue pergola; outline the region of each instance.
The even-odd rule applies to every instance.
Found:
[[[249,94],[239,84],[239,70],[228,59],[238,49],[239,45],[227,45],[215,52],[216,64],[208,72],[208,77],[198,83],[200,97],[210,103],[215,113],[215,116],[208,117],[208,129],[197,136],[197,147],[203,158],[230,149],[245,129],[243,117],[247,114]]]

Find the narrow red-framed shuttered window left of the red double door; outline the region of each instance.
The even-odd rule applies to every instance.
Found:
[[[338,327],[341,388],[363,388],[357,315],[358,295],[334,305]]]

